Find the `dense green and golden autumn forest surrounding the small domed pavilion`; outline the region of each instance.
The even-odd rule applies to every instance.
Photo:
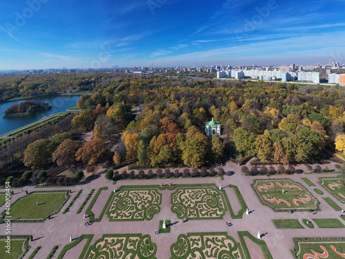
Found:
[[[108,75],[97,77],[92,89],[92,95],[79,99],[82,111],[69,117],[65,128],[72,135],[93,128],[94,138],[83,144],[61,140],[52,145],[47,163],[199,167],[223,162],[226,153],[237,161],[256,156],[266,163],[293,164],[318,161],[345,146],[342,88]],[[221,137],[204,134],[212,117],[221,124]],[[35,142],[28,148],[34,150]],[[28,148],[21,159],[27,166],[42,166],[43,160],[35,164],[29,157]]]

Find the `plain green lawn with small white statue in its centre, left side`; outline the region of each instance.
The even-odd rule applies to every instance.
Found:
[[[43,219],[50,213],[57,211],[67,199],[66,193],[32,193],[26,198],[14,203],[11,207],[12,218]],[[36,202],[39,205],[36,205]]]

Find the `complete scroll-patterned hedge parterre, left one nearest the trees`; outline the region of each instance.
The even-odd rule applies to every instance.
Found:
[[[157,189],[123,189],[114,196],[108,210],[110,221],[152,220],[161,210],[161,193]]]

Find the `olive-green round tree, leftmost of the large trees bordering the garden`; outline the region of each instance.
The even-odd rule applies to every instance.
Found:
[[[50,140],[36,140],[24,151],[24,164],[35,168],[47,164],[52,157]]]

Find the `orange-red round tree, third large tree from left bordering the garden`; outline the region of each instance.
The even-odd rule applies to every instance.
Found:
[[[88,162],[89,165],[96,164],[99,162],[106,148],[104,147],[104,141],[100,138],[92,139],[83,144],[81,148],[78,149],[76,155],[76,160]]]

